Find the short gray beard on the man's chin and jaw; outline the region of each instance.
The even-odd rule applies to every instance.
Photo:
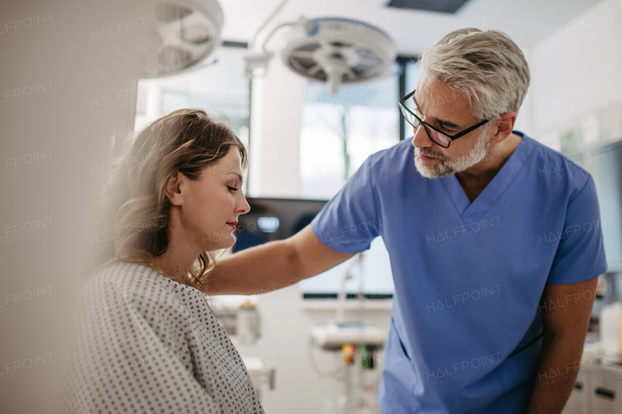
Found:
[[[415,167],[417,171],[427,178],[441,178],[446,175],[452,175],[458,172],[462,172],[466,170],[466,168],[473,167],[476,163],[486,157],[488,154],[488,149],[490,148],[490,142],[486,140],[486,133],[480,134],[475,143],[475,146],[469,151],[467,155],[464,157],[457,157],[454,159],[448,160],[442,154],[430,154],[427,149],[420,150],[419,148],[415,148]],[[429,155],[430,157],[437,157],[440,160],[440,163],[436,163],[434,167],[428,168],[425,167],[424,162],[419,159],[419,152],[422,152],[424,155]],[[427,152],[427,154],[426,154]]]

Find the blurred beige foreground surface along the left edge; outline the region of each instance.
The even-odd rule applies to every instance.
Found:
[[[96,247],[90,236],[103,184],[96,171],[125,127],[131,96],[118,92],[134,93],[140,56],[137,30],[106,41],[98,34],[147,14],[153,6],[142,0],[0,2],[2,412],[58,410],[68,321]],[[33,83],[46,89],[32,93]],[[109,95],[115,103],[102,104]],[[45,363],[32,365],[35,356]],[[5,364],[15,367],[7,375]]]

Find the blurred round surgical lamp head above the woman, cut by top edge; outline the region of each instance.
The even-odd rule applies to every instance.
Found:
[[[139,77],[159,78],[195,67],[221,44],[223,11],[216,0],[154,3],[157,22],[144,26]]]

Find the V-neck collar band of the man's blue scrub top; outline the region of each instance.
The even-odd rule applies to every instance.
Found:
[[[518,131],[512,131],[512,133],[522,137],[521,142],[516,149],[514,149],[514,152],[510,155],[503,167],[501,167],[501,170],[496,173],[491,182],[481,191],[480,195],[473,200],[473,203],[471,203],[466,196],[455,174],[442,178],[458,214],[460,214],[463,219],[478,221],[483,217],[486,211],[488,211],[504,191],[508,189],[510,183],[513,182],[522,167],[524,167],[527,159],[531,156],[534,146],[531,145],[531,142],[528,142],[529,137]]]

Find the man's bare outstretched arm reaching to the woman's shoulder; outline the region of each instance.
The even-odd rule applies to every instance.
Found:
[[[326,247],[311,225],[289,239],[245,249],[226,259],[202,278],[210,295],[254,295],[315,276],[350,259],[353,254]]]

